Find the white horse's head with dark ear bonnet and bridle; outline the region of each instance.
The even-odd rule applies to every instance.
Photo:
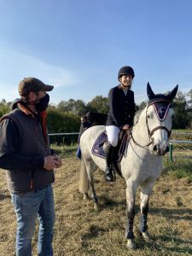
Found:
[[[146,111],[146,123],[148,136],[154,145],[154,154],[164,155],[169,151],[168,138],[172,132],[173,108],[172,100],[177,94],[178,85],[167,95],[154,94],[147,85],[148,106]]]

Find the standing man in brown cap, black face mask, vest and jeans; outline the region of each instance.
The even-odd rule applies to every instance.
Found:
[[[0,122],[0,167],[17,219],[16,255],[32,255],[31,241],[39,220],[38,255],[53,255],[55,205],[51,183],[61,158],[49,148],[46,108],[54,86],[35,78],[20,81],[20,99]]]

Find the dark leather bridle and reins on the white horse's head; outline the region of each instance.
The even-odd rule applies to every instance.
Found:
[[[164,116],[163,116],[163,118],[162,119],[160,119],[160,116],[159,116],[159,114],[158,114],[158,111],[157,111],[157,109],[154,107],[154,103],[158,103],[158,102],[165,102],[165,103],[168,103],[168,105],[167,105],[167,107],[166,107],[166,113],[164,114]],[[154,102],[150,102],[150,103],[148,103],[148,106],[147,106],[147,110],[146,110],[146,125],[147,125],[147,127],[148,127],[148,108],[151,106],[151,105],[153,105],[153,107],[154,107],[154,109],[155,109],[155,112],[156,112],[156,114],[157,114],[157,117],[158,117],[158,119],[160,119],[160,122],[162,122],[164,119],[166,119],[166,114],[168,113],[168,111],[169,111],[169,109],[170,108],[172,108],[172,102],[170,102],[170,101],[167,101],[167,100],[157,100],[157,101],[154,101]],[[149,138],[149,143],[148,144],[146,144],[146,145],[141,145],[140,143],[137,143],[137,141],[134,139],[134,137],[132,136],[132,132],[130,132],[130,135],[131,135],[131,138],[132,138],[132,141],[133,141],[133,143],[135,143],[137,146],[139,146],[139,147],[141,147],[141,148],[148,148],[148,146],[150,146],[153,142],[154,142],[154,139],[153,139],[153,135],[154,135],[154,131],[157,131],[157,130],[166,130],[166,132],[167,132],[167,136],[168,137],[170,137],[171,136],[171,133],[172,133],[172,129],[169,131],[167,128],[166,128],[166,126],[161,126],[161,125],[159,125],[159,126],[156,126],[156,127],[154,127],[154,129],[152,129],[151,131],[150,131],[150,129],[149,129],[149,127],[148,127],[148,138]]]

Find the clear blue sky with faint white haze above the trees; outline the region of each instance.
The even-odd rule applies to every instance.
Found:
[[[136,102],[192,88],[190,0],[0,0],[0,100],[33,76],[54,84],[51,102],[108,96],[130,65]]]

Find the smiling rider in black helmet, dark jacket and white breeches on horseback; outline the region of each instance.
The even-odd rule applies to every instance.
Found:
[[[119,133],[122,130],[130,130],[133,125],[135,100],[131,84],[134,77],[135,73],[132,67],[121,67],[118,73],[120,84],[113,87],[108,93],[109,113],[106,123],[108,143],[105,148],[107,164],[105,179],[108,182],[114,181],[112,163],[119,141]]]

